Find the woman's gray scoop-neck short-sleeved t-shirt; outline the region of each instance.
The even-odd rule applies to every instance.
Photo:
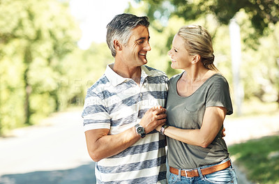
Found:
[[[177,81],[183,73],[169,80],[167,94],[167,123],[176,128],[199,129],[206,107],[225,107],[232,114],[229,85],[225,77],[215,74],[209,77],[195,93],[181,97],[176,91]],[[223,129],[223,128],[222,128]],[[227,145],[222,139],[222,129],[207,148],[185,144],[167,137],[167,159],[170,167],[194,169],[215,164],[227,158]]]

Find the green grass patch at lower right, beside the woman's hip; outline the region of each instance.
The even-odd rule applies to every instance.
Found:
[[[229,146],[229,153],[236,164],[246,169],[250,181],[279,183],[279,135]]]

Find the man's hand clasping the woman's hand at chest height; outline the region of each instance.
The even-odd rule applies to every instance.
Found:
[[[165,112],[166,109],[162,106],[155,106],[144,114],[142,121],[140,121],[140,125],[144,127],[146,134],[167,121],[167,114],[165,114]]]

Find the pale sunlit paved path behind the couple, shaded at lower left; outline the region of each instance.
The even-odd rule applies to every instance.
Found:
[[[0,184],[96,183],[94,162],[86,151],[82,109],[53,114],[29,128],[0,138]],[[225,121],[228,145],[279,132],[279,116]],[[250,184],[238,167],[240,184]]]

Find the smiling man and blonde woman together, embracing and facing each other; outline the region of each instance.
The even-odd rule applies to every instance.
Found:
[[[179,29],[168,55],[184,71],[171,79],[145,66],[149,38],[147,17],[107,24],[114,63],[88,89],[82,113],[97,183],[167,183],[166,144],[169,183],[237,183],[222,138],[232,102],[211,36],[202,26]]]

